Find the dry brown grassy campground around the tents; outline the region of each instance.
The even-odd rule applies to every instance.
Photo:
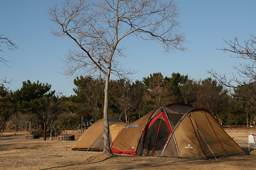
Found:
[[[178,159],[153,156],[103,155],[98,152],[69,151],[80,138],[70,130],[75,141],[58,141],[43,138],[26,140],[26,132],[3,132],[0,135],[0,169],[8,170],[81,170],[81,169],[255,169],[256,151],[246,149],[249,134],[256,134],[256,126],[223,127],[247,153],[243,156],[208,160]]]

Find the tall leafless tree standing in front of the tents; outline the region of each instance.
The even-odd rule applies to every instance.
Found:
[[[65,0],[48,9],[55,36],[67,36],[78,49],[66,55],[64,74],[99,71],[106,76],[104,98],[104,153],[110,154],[108,87],[110,74],[130,73],[121,69],[127,36],[162,43],[166,52],[185,50],[180,33],[179,12],[174,0]]]

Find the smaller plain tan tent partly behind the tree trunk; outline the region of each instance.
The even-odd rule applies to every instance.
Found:
[[[104,120],[100,119],[93,123],[74,146],[70,150],[79,150],[79,151],[103,151],[104,147]],[[110,130],[110,142],[112,142],[121,129],[127,125],[112,117],[108,118],[108,125]]]

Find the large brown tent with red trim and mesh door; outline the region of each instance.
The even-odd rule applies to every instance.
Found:
[[[208,110],[181,103],[153,110],[124,126],[111,150],[190,159],[245,154]]]

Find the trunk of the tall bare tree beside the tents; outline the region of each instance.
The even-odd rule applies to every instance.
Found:
[[[110,66],[108,67],[108,71],[106,74],[106,83],[105,83],[105,98],[104,98],[104,154],[112,154],[110,149],[110,141],[109,141],[109,126],[108,126],[108,86],[109,86],[109,77],[110,77]]]

